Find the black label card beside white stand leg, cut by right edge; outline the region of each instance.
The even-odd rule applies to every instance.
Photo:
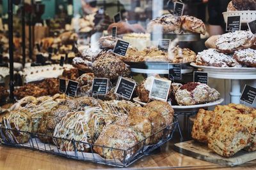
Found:
[[[249,104],[253,104],[255,97],[256,97],[256,88],[251,87],[250,85],[245,85],[242,96],[240,97],[240,100]]]

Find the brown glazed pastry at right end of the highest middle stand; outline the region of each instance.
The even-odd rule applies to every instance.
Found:
[[[194,33],[199,33],[199,34],[205,34],[205,25],[202,20],[188,16],[188,15],[183,15],[180,17],[180,20],[182,22],[182,29],[186,32],[194,32]]]

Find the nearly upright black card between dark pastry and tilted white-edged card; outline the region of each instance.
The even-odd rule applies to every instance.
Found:
[[[92,94],[106,95],[108,92],[108,78],[94,78]]]

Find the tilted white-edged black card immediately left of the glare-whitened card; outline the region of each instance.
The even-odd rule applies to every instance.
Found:
[[[120,97],[124,97],[125,99],[131,100],[135,87],[136,87],[135,81],[131,81],[123,77],[119,77],[116,85],[116,89],[115,89],[115,94]]]

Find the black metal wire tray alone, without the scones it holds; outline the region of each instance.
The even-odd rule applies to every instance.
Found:
[[[76,160],[84,160],[84,161],[88,161],[88,162],[95,162],[97,164],[104,164],[104,165],[108,165],[108,166],[115,166],[115,167],[128,167],[131,164],[133,164],[134,162],[136,162],[137,160],[139,160],[141,157],[145,156],[145,155],[149,155],[152,151],[154,151],[156,148],[159,148],[161,145],[163,145],[164,143],[166,143],[167,141],[170,141],[170,139],[172,139],[173,137],[173,132],[175,131],[175,129],[178,127],[179,128],[179,123],[177,118],[173,119],[173,123],[171,125],[166,125],[166,127],[164,127],[163,129],[161,129],[160,131],[157,131],[156,133],[152,134],[151,136],[157,135],[159,133],[163,133],[162,139],[154,145],[145,145],[145,141],[150,138],[151,136],[149,136],[148,138],[143,139],[143,141],[140,141],[138,143],[136,143],[136,145],[132,146],[131,148],[127,149],[127,150],[122,150],[122,149],[118,149],[118,148],[111,148],[108,146],[99,146],[99,145],[95,145],[95,144],[91,144],[91,143],[84,143],[82,141],[74,141],[74,140],[70,140],[70,139],[64,139],[64,138],[56,138],[56,137],[51,137],[52,139],[58,139],[61,140],[61,142],[72,142],[72,145],[74,146],[74,152],[67,152],[67,151],[62,151],[60,150],[60,147],[50,144],[50,143],[42,143],[40,141],[40,139],[38,139],[38,136],[46,136],[44,134],[36,134],[36,133],[32,133],[32,132],[24,132],[24,131],[17,131],[17,130],[13,130],[13,129],[4,129],[1,128],[0,126],[0,143],[2,143],[3,145],[8,145],[8,146],[14,146],[17,148],[28,148],[31,150],[38,150],[40,152],[46,152],[46,153],[52,153],[54,155],[60,155],[63,157],[67,157],[70,159],[76,159]],[[0,124],[1,125],[1,124]],[[12,131],[15,132],[15,134],[28,134],[29,136],[31,136],[29,138],[29,141],[27,143],[15,143],[15,141],[11,141],[10,139],[7,139],[4,136],[4,132],[8,132],[8,131]],[[180,129],[179,129],[180,131]],[[47,136],[50,137],[50,136]],[[79,145],[88,145],[90,146],[90,152],[81,152],[79,150],[77,150],[77,146]],[[97,146],[97,147],[102,147],[102,149],[109,149],[111,150],[111,155],[113,157],[113,159],[105,159],[104,155],[103,157],[101,157],[98,153],[96,153],[93,150],[93,147]],[[139,148],[138,151],[134,154],[132,154],[131,156],[127,157],[127,154],[131,153],[131,150],[133,150],[135,147]],[[122,159],[118,160],[115,159],[113,152],[120,152],[122,154]]]

